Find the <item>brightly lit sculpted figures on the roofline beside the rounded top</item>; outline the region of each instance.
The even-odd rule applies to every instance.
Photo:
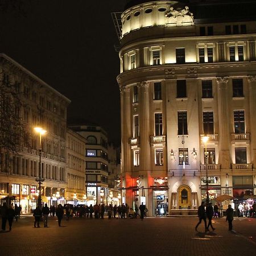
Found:
[[[174,7],[166,13],[166,24],[173,26],[191,26],[194,21],[193,13],[189,11],[189,7],[185,6],[182,10],[175,10]]]

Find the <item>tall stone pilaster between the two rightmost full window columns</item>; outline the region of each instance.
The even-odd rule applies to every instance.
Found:
[[[230,131],[229,131],[229,105],[228,105],[228,77],[217,77],[218,84],[218,163],[222,169],[230,168]]]

